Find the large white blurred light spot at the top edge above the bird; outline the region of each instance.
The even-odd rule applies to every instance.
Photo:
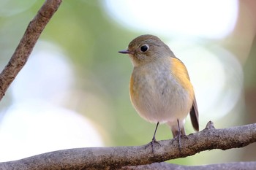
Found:
[[[107,0],[110,16],[124,27],[165,36],[220,39],[233,30],[238,1]]]

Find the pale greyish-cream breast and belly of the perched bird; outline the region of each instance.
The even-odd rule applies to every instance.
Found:
[[[170,74],[167,64],[135,67],[129,88],[139,115],[153,123],[184,119],[192,107],[190,94]]]

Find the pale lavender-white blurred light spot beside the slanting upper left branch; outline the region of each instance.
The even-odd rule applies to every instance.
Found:
[[[39,98],[61,103],[58,100],[67,98],[65,95],[75,81],[69,63],[61,48],[50,42],[39,41],[26,66],[11,85],[14,102]]]

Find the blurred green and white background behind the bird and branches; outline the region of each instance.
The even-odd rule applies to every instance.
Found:
[[[44,1],[0,0],[0,67]],[[159,36],[187,66],[200,130],[256,122],[256,1],[63,1],[0,102],[0,161],[74,147],[142,145],[155,125],[129,101],[129,57],[141,34]],[[189,117],[187,134],[193,133]],[[170,139],[160,125],[157,139]],[[256,144],[170,161],[255,161]],[[221,155],[221,156],[220,156]]]

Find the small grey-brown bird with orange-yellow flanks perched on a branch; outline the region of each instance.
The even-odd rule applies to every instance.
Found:
[[[133,107],[144,120],[157,124],[153,152],[159,123],[170,127],[173,138],[178,136],[180,149],[188,114],[199,131],[197,101],[186,66],[161,39],[150,34],[136,37],[127,50],[118,53],[128,54],[132,61],[129,96]]]

